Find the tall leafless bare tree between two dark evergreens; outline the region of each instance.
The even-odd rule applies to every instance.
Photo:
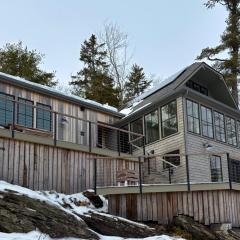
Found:
[[[110,75],[115,81],[121,107],[124,103],[124,92],[131,60],[128,51],[128,35],[122,32],[117,24],[110,22],[104,24],[99,38],[106,46]]]

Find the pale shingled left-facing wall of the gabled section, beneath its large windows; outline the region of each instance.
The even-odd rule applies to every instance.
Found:
[[[177,119],[178,119],[178,132],[166,138],[160,139],[154,143],[145,146],[146,152],[154,150],[155,154],[166,154],[168,152],[179,150],[180,154],[185,153],[185,143],[184,143],[184,119],[183,119],[183,98],[177,98]],[[160,127],[161,131],[161,127]],[[161,136],[161,133],[160,133]],[[152,164],[151,168],[154,168],[156,172],[161,172],[161,176],[158,175],[156,183],[167,183],[168,171],[163,170],[163,162],[158,159],[150,160]],[[146,164],[145,164],[146,166]],[[144,172],[147,170],[145,168]],[[172,174],[172,182],[186,182],[186,164],[185,157],[180,158],[180,166],[174,170]]]

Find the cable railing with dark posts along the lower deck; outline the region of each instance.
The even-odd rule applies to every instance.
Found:
[[[221,161],[224,161],[226,169],[223,169],[225,165],[223,166],[222,162],[218,163],[217,160],[215,165],[210,167],[210,158],[216,154],[222,157]],[[204,166],[200,163],[193,166],[196,162],[194,157],[204,159]],[[225,183],[229,189],[232,189],[233,183],[240,184],[240,161],[230,159],[226,152],[133,156],[133,164],[125,163],[124,166],[115,164],[110,167],[110,171],[106,165],[101,165],[110,158],[99,157],[94,160],[95,189],[137,186],[141,192],[142,187],[148,185],[182,184],[191,191],[195,184]]]

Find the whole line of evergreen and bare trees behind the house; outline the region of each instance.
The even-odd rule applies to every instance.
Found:
[[[208,0],[205,6],[211,9],[219,4],[228,12],[226,29],[220,36],[220,44],[204,48],[197,59],[213,62],[212,66],[223,74],[238,104],[240,0]],[[222,52],[226,53],[225,58],[219,57]],[[7,43],[0,48],[0,71],[54,87],[58,84],[55,72],[41,69],[43,58],[43,54],[29,50],[22,42]],[[79,60],[83,67],[71,76],[69,83],[73,94],[83,98],[121,109],[152,83],[143,67],[136,63],[129,65],[128,36],[116,24],[105,24],[98,36],[92,34],[86,39],[81,45]]]

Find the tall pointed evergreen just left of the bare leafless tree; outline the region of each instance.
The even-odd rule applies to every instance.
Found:
[[[72,76],[70,84],[74,86],[73,93],[78,96],[118,107],[117,91],[109,76],[104,45],[97,42],[95,35],[84,41],[79,59],[84,67]]]

